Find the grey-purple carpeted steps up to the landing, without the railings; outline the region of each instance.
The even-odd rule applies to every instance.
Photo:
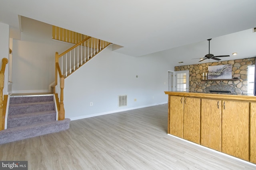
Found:
[[[70,119],[56,120],[53,94],[10,96],[7,129],[0,131],[0,144],[63,131]]]

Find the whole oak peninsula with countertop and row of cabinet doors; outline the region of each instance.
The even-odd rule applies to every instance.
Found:
[[[165,94],[168,94],[168,134],[256,164],[256,96]]]

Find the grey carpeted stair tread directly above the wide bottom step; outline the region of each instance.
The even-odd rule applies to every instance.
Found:
[[[34,113],[23,113],[18,115],[9,115],[8,120],[21,120],[21,119],[28,119],[31,117],[41,117],[46,115],[55,115],[56,118],[56,111],[50,110],[50,111],[40,111],[40,112],[34,112]]]

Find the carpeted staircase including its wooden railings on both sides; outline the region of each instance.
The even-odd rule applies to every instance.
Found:
[[[64,79],[110,44],[86,36],[84,40],[60,55],[56,52],[55,81],[52,86],[54,94],[50,95],[10,96],[9,101],[7,97],[6,100],[1,100],[5,62],[0,71],[0,144],[68,129],[70,119],[64,118]],[[6,107],[3,107],[8,105],[7,102],[9,102],[8,115],[6,115]],[[7,121],[4,119],[5,116]],[[7,129],[4,128],[6,123]]]

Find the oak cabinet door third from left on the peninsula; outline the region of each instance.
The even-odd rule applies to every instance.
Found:
[[[201,145],[221,152],[222,101],[202,99]]]

